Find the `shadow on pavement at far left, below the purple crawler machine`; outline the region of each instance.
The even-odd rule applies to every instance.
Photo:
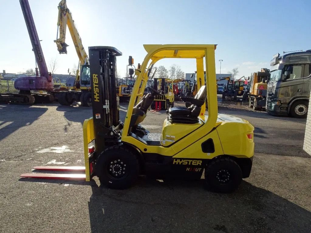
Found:
[[[2,104],[1,104],[2,105]],[[21,127],[29,126],[42,116],[48,108],[32,105],[2,105],[0,109],[0,141]]]

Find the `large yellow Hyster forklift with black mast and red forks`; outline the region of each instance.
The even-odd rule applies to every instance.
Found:
[[[116,48],[89,47],[93,117],[84,121],[85,174],[22,174],[22,177],[84,179],[97,176],[101,185],[114,189],[132,186],[139,174],[154,179],[204,179],[210,190],[232,192],[242,178],[250,175],[254,127],[239,117],[218,114],[216,95],[216,45],[144,45],[147,55],[139,68],[124,123],[119,121],[117,104]],[[157,89],[143,94],[148,71],[163,58],[193,58],[197,62],[194,97],[181,97],[190,107],[171,107],[160,133],[142,127]],[[206,85],[204,85],[204,63]],[[202,81],[203,80],[203,81]],[[135,105],[136,98],[142,97]],[[208,115],[205,115],[205,100]],[[89,147],[94,141],[95,146]],[[52,170],[53,167],[35,167]],[[75,171],[83,167],[54,167],[53,171]]]

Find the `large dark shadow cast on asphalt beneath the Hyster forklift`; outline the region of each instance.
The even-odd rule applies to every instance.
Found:
[[[203,180],[146,181],[128,190],[92,185],[92,233],[309,232],[311,212],[243,181],[232,194],[211,193]]]

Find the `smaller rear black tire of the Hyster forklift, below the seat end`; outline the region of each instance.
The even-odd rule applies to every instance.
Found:
[[[205,169],[207,187],[218,193],[231,193],[242,181],[242,170],[231,158],[216,158]]]

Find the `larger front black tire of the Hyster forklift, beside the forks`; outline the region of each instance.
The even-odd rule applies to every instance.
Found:
[[[128,189],[138,177],[139,163],[132,151],[118,145],[111,146],[98,157],[95,171],[101,185]]]

